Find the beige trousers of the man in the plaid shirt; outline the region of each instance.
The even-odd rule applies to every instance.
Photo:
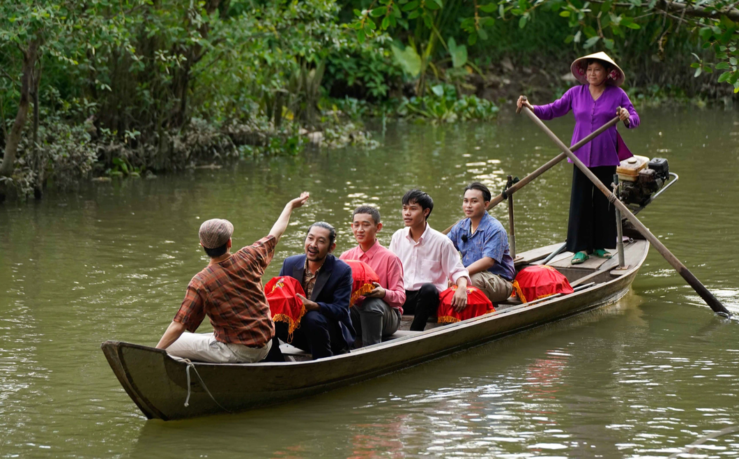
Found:
[[[248,347],[244,344],[216,341],[213,333],[185,332],[167,347],[167,353],[194,361],[237,364],[264,360],[270,352],[270,347],[272,347],[271,340],[267,341],[263,347]]]

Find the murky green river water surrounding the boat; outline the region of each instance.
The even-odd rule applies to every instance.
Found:
[[[667,157],[679,182],[639,217],[739,312],[739,115],[646,110],[632,150]],[[565,142],[571,119],[550,123]],[[203,220],[234,223],[234,245],[265,235],[299,191],[267,276],[302,251],[316,220],[353,245],[350,212],[380,208],[389,243],[400,198],[434,197],[437,229],[460,217],[471,180],[494,190],[557,152],[524,119],[389,124],[367,151],[313,151],[156,180],[94,184],[0,206],[2,458],[667,458],[739,424],[739,323],[715,316],[654,250],[616,305],[282,407],[146,421],[100,344],[156,344],[207,258]],[[625,129],[621,129],[625,131]],[[515,195],[519,251],[562,241],[571,165]],[[505,205],[494,215],[507,225]],[[207,331],[203,324],[201,331]],[[690,457],[739,455],[739,434]],[[687,457],[687,456],[686,456]]]

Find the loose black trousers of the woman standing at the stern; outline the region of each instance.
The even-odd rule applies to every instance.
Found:
[[[574,166],[567,250],[592,252],[596,248],[616,248],[616,207]],[[611,188],[616,166],[591,167],[590,171]]]

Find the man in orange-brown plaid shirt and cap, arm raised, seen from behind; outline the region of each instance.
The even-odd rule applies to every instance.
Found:
[[[231,254],[234,225],[213,219],[200,226],[200,245],[211,257],[187,288],[185,300],[157,348],[172,356],[215,363],[263,360],[275,334],[270,307],[262,288],[262,274],[285,233],[293,210],[308,193],[291,200],[267,237]],[[208,316],[214,333],[194,333]]]

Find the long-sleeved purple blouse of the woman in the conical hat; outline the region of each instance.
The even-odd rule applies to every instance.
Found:
[[[575,116],[575,131],[572,133],[574,145],[590,133],[603,126],[616,116],[616,109],[621,106],[630,113],[628,129],[639,125],[639,115],[623,89],[618,86],[606,86],[597,101],[593,101],[587,84],[568,89],[562,98],[547,105],[535,105],[534,114],[542,120],[551,120],[567,115],[572,110]],[[611,126],[598,137],[590,140],[574,152],[576,157],[588,167],[618,166],[621,160],[633,156],[616,126]],[[572,161],[569,161],[570,163]]]

